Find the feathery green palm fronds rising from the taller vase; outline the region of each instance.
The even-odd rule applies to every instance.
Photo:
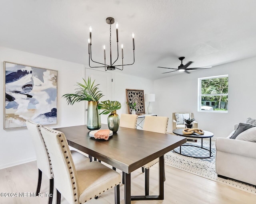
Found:
[[[94,85],[94,82],[91,82],[91,78],[88,77],[88,80],[83,78],[84,84],[78,83],[78,86],[74,94],[64,94],[62,97],[66,98],[68,104],[73,105],[75,102],[80,102],[83,100],[87,101],[99,101],[102,96],[104,96],[101,91],[98,90],[98,85]]]

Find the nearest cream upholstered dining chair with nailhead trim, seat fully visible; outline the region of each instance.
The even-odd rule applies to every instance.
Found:
[[[41,132],[51,157],[56,204],[60,204],[61,195],[70,204],[81,204],[113,187],[115,204],[120,204],[119,173],[97,161],[74,164],[64,133],[48,127]]]

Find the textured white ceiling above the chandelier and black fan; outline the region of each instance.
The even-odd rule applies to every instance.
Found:
[[[132,61],[135,34],[135,63],[122,73],[156,79],[174,75],[157,67],[177,68],[181,56],[184,64],[194,61],[190,67],[256,56],[255,0],[0,0],[0,5],[0,46],[85,67],[90,26],[93,58],[103,61],[103,44],[108,58],[109,16],[119,24],[124,63]]]

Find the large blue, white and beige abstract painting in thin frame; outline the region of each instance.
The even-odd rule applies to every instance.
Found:
[[[58,71],[4,61],[4,129],[57,124]]]

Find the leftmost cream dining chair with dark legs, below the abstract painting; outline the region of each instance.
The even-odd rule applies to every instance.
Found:
[[[48,204],[52,204],[53,186],[54,186],[54,174],[52,171],[52,162],[48,153],[48,149],[45,145],[44,138],[41,134],[42,125],[34,123],[32,121],[26,121],[26,126],[32,138],[34,149],[36,151],[36,162],[38,167],[38,183],[36,187],[36,196],[38,196],[41,188],[42,173],[49,179],[49,196]],[[80,154],[77,151],[72,151],[72,157],[75,162],[89,163],[90,159],[85,155]]]

